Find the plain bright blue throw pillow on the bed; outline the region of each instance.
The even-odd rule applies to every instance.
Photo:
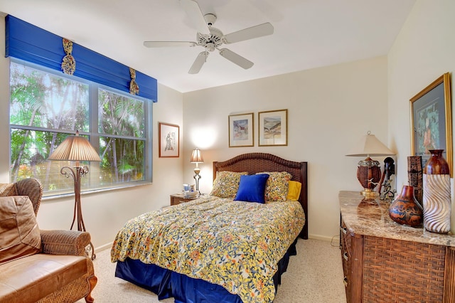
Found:
[[[259,202],[264,204],[265,184],[269,179],[268,174],[240,176],[239,189],[234,201]]]

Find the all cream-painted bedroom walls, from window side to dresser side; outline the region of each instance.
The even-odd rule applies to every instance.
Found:
[[[194,147],[203,150],[200,189],[205,193],[211,189],[212,161],[251,151],[308,161],[310,236],[337,235],[338,191],[360,190],[355,178],[360,159],[344,155],[365,132],[370,130],[397,152],[397,187],[407,184],[409,100],[443,73],[453,73],[454,15],[453,0],[418,0],[387,58],[184,95],[159,85],[159,102],[154,105],[154,184],[82,196],[85,224],[95,247],[112,241],[119,226],[132,216],[168,205],[169,193],[180,191],[182,183],[193,182],[194,166],[189,159]],[[0,48],[4,49],[3,22],[0,32]],[[9,142],[6,58],[0,58],[0,80],[0,142]],[[451,82],[453,87],[454,81]],[[257,112],[284,108],[289,110],[288,146],[257,147]],[[228,115],[242,112],[255,112],[255,147],[229,148]],[[181,126],[180,158],[158,158],[158,122]],[[0,152],[0,182],[9,181],[8,167],[9,150],[4,144]],[[68,229],[72,212],[72,198],[43,201],[38,223],[41,228]]]

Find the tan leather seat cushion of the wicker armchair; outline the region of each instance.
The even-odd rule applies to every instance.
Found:
[[[0,302],[37,302],[85,274],[86,257],[41,253],[22,257],[0,265]]]

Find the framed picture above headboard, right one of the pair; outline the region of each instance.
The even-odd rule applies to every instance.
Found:
[[[259,147],[287,145],[287,110],[259,112]]]

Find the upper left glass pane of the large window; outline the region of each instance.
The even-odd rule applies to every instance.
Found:
[[[10,124],[88,132],[88,87],[11,63]]]

